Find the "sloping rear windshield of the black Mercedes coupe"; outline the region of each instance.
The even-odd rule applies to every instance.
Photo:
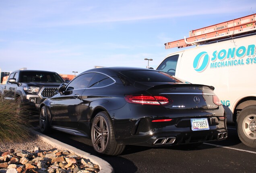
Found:
[[[122,74],[137,82],[174,82],[174,83],[188,83],[167,74],[165,72],[151,71],[151,70],[130,70],[123,71]]]

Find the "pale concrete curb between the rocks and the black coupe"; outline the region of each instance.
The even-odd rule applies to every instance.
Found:
[[[100,169],[99,173],[114,173],[113,167],[107,161],[99,157],[96,157],[94,155],[91,155],[90,153],[87,153],[85,151],[82,151],[80,149],[67,145],[65,143],[62,143],[56,139],[43,135],[38,131],[31,129],[31,132],[37,135],[39,139],[41,139],[42,141],[52,145],[57,149],[68,150],[70,153],[74,153],[75,155],[78,155],[79,157],[83,157],[85,159],[89,159],[92,163],[99,165],[99,169]]]

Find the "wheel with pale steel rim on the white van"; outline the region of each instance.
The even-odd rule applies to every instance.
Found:
[[[256,148],[256,105],[248,106],[239,113],[237,133],[242,143]]]

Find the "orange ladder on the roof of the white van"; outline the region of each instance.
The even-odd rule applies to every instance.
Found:
[[[229,20],[227,22],[207,26],[197,30],[191,30],[188,38],[184,37],[184,39],[181,40],[165,43],[165,49],[204,44],[252,32],[256,32],[256,14]]]

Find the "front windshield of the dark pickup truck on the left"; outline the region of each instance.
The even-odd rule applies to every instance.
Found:
[[[64,82],[62,78],[54,72],[21,72],[20,76],[19,82]]]

